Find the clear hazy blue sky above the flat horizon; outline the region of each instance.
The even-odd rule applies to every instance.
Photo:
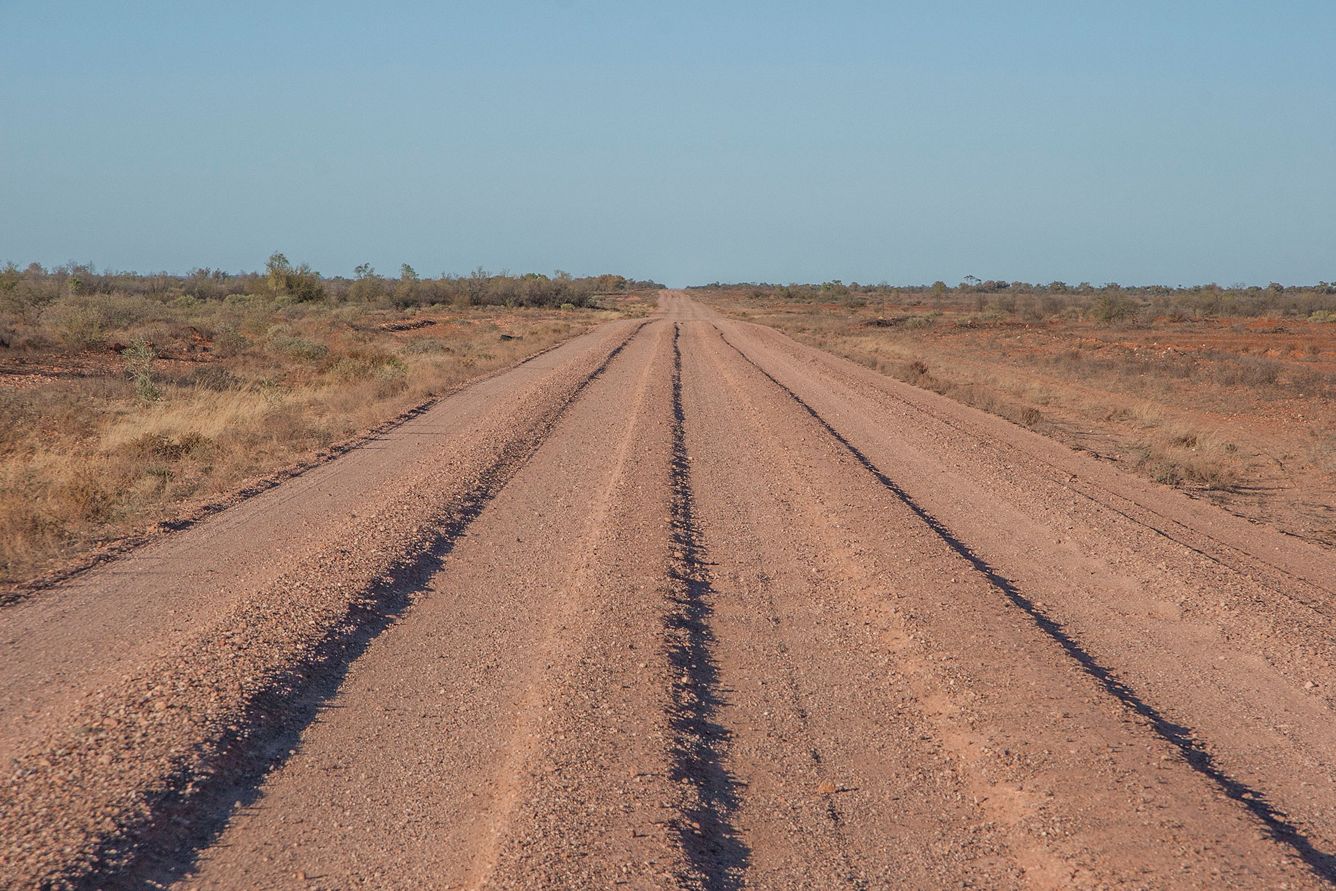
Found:
[[[0,262],[1331,281],[1332,35],[1332,0],[0,0]]]

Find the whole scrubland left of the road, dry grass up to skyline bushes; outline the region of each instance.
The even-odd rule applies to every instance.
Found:
[[[623,315],[619,275],[0,270],[0,586]]]

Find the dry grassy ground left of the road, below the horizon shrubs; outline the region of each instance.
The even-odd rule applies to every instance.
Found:
[[[652,299],[652,298],[651,298]],[[411,311],[246,298],[61,298],[11,315],[0,349],[0,581],[310,460],[613,309]],[[156,354],[143,398],[120,355]]]

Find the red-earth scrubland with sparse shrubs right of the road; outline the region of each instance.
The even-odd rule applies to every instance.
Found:
[[[1336,545],[1336,283],[711,285],[693,297]]]

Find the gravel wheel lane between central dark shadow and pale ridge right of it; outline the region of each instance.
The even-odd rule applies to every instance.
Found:
[[[906,696],[911,656],[891,648],[899,659],[887,660],[883,645],[899,636],[883,628],[883,616],[864,618],[855,592],[876,581],[850,570],[863,558],[824,505],[831,493],[810,477],[810,449],[792,441],[806,438],[776,433],[774,415],[745,379],[754,369],[729,367],[725,355],[701,349],[709,335],[696,339],[697,375],[711,381],[711,393],[728,394],[713,426],[747,442],[748,460],[766,468],[764,484],[736,469],[711,468],[712,534],[731,542],[729,564],[720,568],[729,576],[721,622],[731,644],[729,675],[733,685],[749,688],[751,701],[731,708],[729,720],[748,753],[739,769],[754,783],[743,820],[764,850],[759,883],[802,887],[792,880],[802,868],[820,875],[826,887],[937,888],[970,880],[1011,887],[993,863],[971,871],[951,863],[987,859],[1001,840],[985,828],[986,815],[965,800],[971,789],[950,760],[941,760],[937,735],[923,735],[926,727],[951,731],[941,720],[949,705],[935,696],[935,681],[921,684],[916,700]],[[728,355],[736,365],[736,355]],[[815,557],[823,552],[830,561]],[[862,633],[850,635],[850,628]],[[839,689],[843,684],[858,688],[856,701]],[[898,812],[918,819],[906,826]],[[921,816],[927,814],[933,819]],[[970,826],[978,835],[959,850],[937,850],[929,839],[941,838],[938,822]],[[776,856],[782,847],[792,848],[787,858]],[[1042,858],[1018,854],[1013,848],[1011,859],[1034,875],[1043,872]]]

